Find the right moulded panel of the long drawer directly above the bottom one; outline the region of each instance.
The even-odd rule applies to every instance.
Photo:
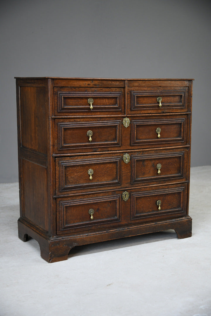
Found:
[[[189,148],[155,150],[131,155],[131,184],[144,185],[187,180]]]

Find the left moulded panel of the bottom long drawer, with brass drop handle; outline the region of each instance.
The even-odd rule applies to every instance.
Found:
[[[120,194],[57,199],[57,234],[107,228],[120,222]],[[92,217],[92,219],[91,219]]]

